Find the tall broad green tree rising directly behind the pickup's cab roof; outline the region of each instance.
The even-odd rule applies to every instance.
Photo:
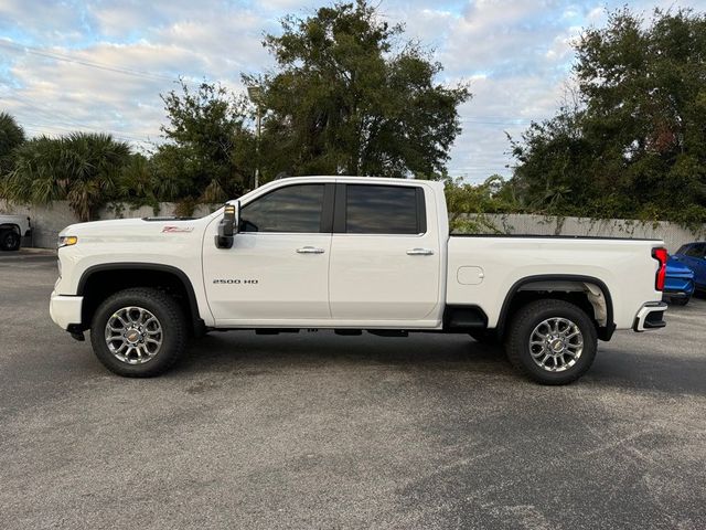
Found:
[[[442,172],[460,132],[464,84],[436,82],[440,63],[365,0],[282,20],[266,35],[277,71],[263,87],[266,180],[289,174],[404,177]]]

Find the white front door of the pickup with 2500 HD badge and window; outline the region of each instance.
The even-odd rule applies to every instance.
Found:
[[[277,188],[242,206],[232,248],[216,248],[213,237],[205,239],[204,284],[217,326],[331,318],[325,210],[333,208],[332,198],[333,184]]]

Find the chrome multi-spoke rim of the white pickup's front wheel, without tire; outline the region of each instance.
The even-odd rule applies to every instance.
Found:
[[[141,307],[124,307],[106,324],[106,344],[118,360],[128,364],[151,361],[162,347],[162,326]]]

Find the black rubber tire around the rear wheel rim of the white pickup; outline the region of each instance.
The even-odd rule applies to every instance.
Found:
[[[549,371],[548,368],[539,367],[533,358],[530,346],[535,328],[553,318],[569,320],[578,327],[582,337],[582,350],[578,354],[578,359],[568,368],[558,367],[560,371]],[[569,340],[577,341],[578,339]],[[580,307],[556,299],[536,300],[521,308],[512,319],[505,342],[505,351],[510,362],[523,374],[542,384],[568,384],[579,379],[593,363],[597,347],[596,326],[589,316]],[[534,348],[544,351],[543,346]],[[553,360],[555,369],[559,361],[570,364],[573,359],[573,357],[561,356],[560,360]]]

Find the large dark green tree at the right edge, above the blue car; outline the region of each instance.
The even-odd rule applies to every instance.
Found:
[[[577,105],[513,142],[523,200],[549,213],[706,221],[706,17],[628,9],[576,45]]]

